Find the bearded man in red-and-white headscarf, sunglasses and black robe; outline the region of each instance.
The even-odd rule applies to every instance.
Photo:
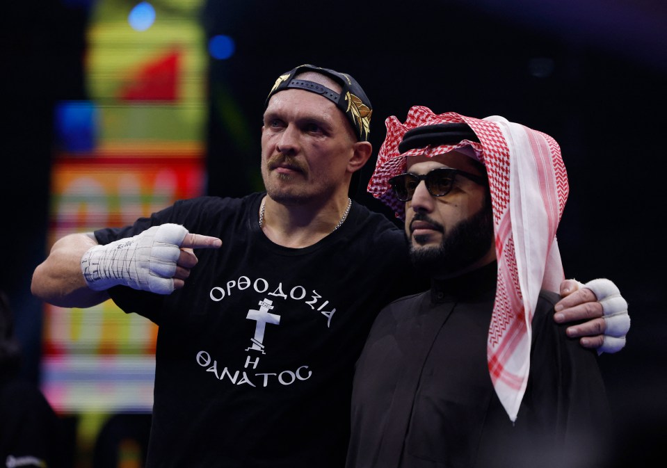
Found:
[[[597,355],[551,319],[568,197],[560,147],[499,116],[414,106],[386,124],[369,193],[405,219],[412,261],[432,281],[373,324],[348,468],[604,463]]]

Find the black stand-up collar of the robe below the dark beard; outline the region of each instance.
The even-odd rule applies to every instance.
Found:
[[[498,277],[498,262],[477,268],[457,277],[443,280],[431,280],[431,302],[449,302],[452,300],[487,298],[495,296]]]

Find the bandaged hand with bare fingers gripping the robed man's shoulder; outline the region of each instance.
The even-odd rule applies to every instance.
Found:
[[[568,291],[576,288],[576,292]],[[563,289],[565,286],[566,289]],[[569,294],[569,295],[568,295]],[[630,329],[627,302],[618,287],[606,279],[592,280],[586,284],[565,280],[561,284],[561,296],[556,304],[554,320],[587,322],[568,327],[569,337],[582,337],[581,345],[596,348],[598,353],[616,353],[625,346],[625,336]]]

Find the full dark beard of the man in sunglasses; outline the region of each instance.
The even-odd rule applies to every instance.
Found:
[[[472,218],[461,221],[449,232],[443,228],[442,242],[437,247],[415,248],[410,243],[410,259],[425,275],[449,276],[484,257],[492,243],[493,215],[486,203]]]

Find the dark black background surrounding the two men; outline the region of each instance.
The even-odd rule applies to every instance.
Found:
[[[0,15],[1,287],[17,314],[24,373],[35,381],[42,309],[29,284],[45,257],[53,106],[87,99],[89,3],[7,2]],[[236,41],[236,54],[211,61],[207,76],[211,195],[261,190],[264,97],[279,74],[301,63],[362,83],[373,103],[376,151],[384,119],[403,121],[417,104],[502,115],[553,136],[570,179],[558,231],[565,275],[609,277],[632,317],[627,346],[600,358],[621,436],[618,467],[664,458],[666,2],[209,0],[202,27]],[[243,116],[235,134],[226,130],[229,105]],[[364,189],[357,201],[390,216]]]

